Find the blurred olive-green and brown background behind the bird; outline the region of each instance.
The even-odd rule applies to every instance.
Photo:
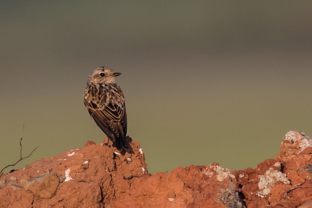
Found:
[[[21,137],[39,148],[12,168],[103,141],[82,100],[102,65],[150,173],[254,168],[287,131],[312,136],[311,1],[7,0],[0,30],[1,169]]]

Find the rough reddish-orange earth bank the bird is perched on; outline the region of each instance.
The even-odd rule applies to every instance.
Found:
[[[0,207],[312,207],[312,140],[290,131],[280,154],[230,172],[217,163],[147,172],[134,154],[88,141],[0,177]]]

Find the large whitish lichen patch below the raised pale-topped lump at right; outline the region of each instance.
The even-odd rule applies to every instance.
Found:
[[[277,181],[281,181],[286,185],[290,184],[285,173],[274,170],[272,167],[270,167],[264,175],[259,175],[258,177],[260,180],[258,183],[259,191],[257,192],[257,196],[259,197],[267,196]]]

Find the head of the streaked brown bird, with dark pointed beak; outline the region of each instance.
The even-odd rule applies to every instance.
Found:
[[[93,70],[89,75],[88,83],[114,84],[115,76],[119,75],[121,75],[121,73],[114,72],[107,66],[101,66]]]

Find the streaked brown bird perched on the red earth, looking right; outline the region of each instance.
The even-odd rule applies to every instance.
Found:
[[[129,142],[126,141],[127,113],[124,92],[115,83],[115,77],[121,73],[114,72],[107,66],[93,70],[88,77],[83,101],[93,121],[108,137],[113,146],[121,153],[133,153]]]

